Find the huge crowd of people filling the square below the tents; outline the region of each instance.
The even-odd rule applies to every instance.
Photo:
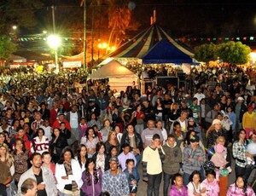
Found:
[[[82,72],[5,70],[0,195],[135,196],[143,181],[157,196],[163,179],[165,196],[253,196],[253,74],[192,70],[191,89],[153,83],[116,97],[108,85],[75,89]]]

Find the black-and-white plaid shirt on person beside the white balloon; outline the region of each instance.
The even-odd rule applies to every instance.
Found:
[[[245,145],[242,145],[240,141],[235,141],[233,144],[233,156],[236,159],[236,164],[240,167],[245,167],[247,165],[247,148]],[[239,160],[238,160],[239,159]],[[241,163],[241,161],[244,163]]]

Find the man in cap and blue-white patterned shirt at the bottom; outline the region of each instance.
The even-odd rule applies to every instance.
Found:
[[[129,185],[125,173],[118,168],[119,159],[113,157],[109,159],[110,170],[102,176],[102,192],[110,195],[129,195]]]

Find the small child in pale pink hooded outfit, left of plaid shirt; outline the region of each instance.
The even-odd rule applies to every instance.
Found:
[[[218,176],[227,176],[232,171],[230,167],[224,169],[225,165],[228,164],[226,161],[227,153],[224,150],[224,146],[221,144],[216,145],[216,152],[212,156],[212,163],[216,168],[216,179],[218,180]]]

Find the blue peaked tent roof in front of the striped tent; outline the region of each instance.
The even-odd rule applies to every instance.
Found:
[[[166,38],[160,40],[143,56],[143,64],[149,63],[192,63],[192,58]]]

